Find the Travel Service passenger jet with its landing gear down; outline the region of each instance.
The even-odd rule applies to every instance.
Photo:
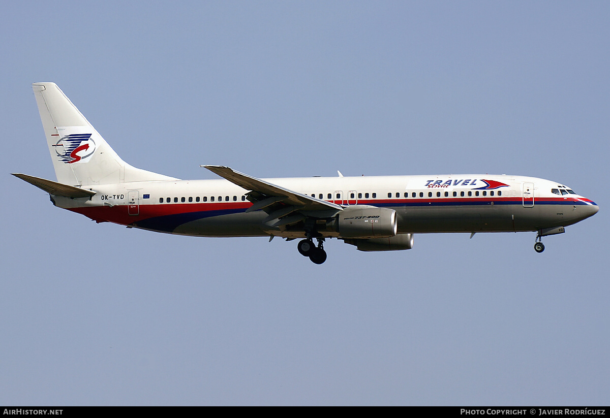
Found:
[[[520,175],[445,174],[257,179],[226,166],[222,177],[181,180],[135,168],[113,151],[55,83],[34,83],[57,181],[13,173],[54,205],[96,222],[190,236],[278,236],[326,261],[325,239],[361,251],[408,250],[416,233],[536,232],[593,216],[571,188]],[[314,243],[314,239],[317,244]]]

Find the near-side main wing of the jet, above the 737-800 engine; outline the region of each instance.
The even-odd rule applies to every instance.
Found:
[[[202,166],[215,174],[220,175],[229,182],[234,183],[246,190],[256,192],[260,196],[254,197],[255,202],[247,212],[254,210],[265,210],[269,216],[264,222],[270,226],[292,224],[303,220],[306,216],[314,218],[327,218],[338,211],[343,210],[340,205],[325,200],[316,199],[306,194],[297,193],[282,186],[265,182],[265,180],[251,177],[232,168],[224,166]],[[283,205],[278,205],[279,203]],[[281,219],[280,219],[281,218]]]

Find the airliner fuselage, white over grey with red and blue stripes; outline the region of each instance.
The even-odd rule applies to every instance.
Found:
[[[343,207],[391,208],[397,212],[398,233],[535,231],[571,225],[597,212],[594,202],[571,190],[568,193],[559,183],[514,175],[264,180]],[[56,197],[56,204],[97,221],[181,235],[303,236],[298,227],[264,224],[267,214],[262,210],[245,213],[251,206],[248,190],[226,180],[163,180],[91,188],[96,191],[91,198]],[[320,232],[340,238],[337,232]]]

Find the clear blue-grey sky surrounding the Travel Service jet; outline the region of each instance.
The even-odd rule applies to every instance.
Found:
[[[610,4],[9,2],[2,405],[608,403]],[[495,173],[594,218],[405,252],[95,224],[54,179],[56,82],[127,162],[181,179]]]

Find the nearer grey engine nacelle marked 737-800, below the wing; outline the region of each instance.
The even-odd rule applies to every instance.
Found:
[[[398,223],[393,209],[354,205],[340,211],[326,227],[341,238],[381,238],[395,236]]]

